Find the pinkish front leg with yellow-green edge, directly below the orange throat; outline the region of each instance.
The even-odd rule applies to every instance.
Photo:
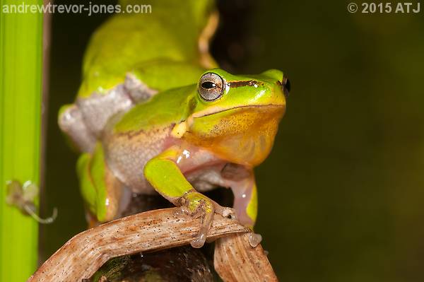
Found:
[[[257,186],[253,172],[245,180],[232,182],[230,187],[234,194],[233,208],[237,213],[238,221],[242,225],[253,228],[258,212]]]

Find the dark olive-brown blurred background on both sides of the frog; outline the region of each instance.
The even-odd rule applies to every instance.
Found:
[[[256,231],[281,281],[422,281],[424,11],[349,13],[347,5],[218,3],[220,65],[282,69],[292,84],[273,152],[256,170]],[[57,112],[73,101],[84,49],[106,18],[52,18],[42,212],[57,206],[59,217],[42,227],[43,259],[86,228],[77,155]]]

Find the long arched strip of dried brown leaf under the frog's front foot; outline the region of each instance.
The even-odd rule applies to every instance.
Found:
[[[178,211],[180,208],[147,211],[79,233],[28,281],[81,281],[90,278],[112,257],[188,245],[199,232],[199,219],[176,216]],[[237,221],[216,214],[208,241],[247,231]]]

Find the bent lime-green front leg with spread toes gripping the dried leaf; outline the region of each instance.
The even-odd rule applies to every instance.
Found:
[[[207,196],[196,192],[192,184],[184,177],[179,163],[185,151],[178,146],[168,148],[151,159],[144,167],[144,176],[153,188],[175,206],[182,206],[182,211],[201,219],[199,235],[192,240],[192,247],[202,247],[213,220],[214,213],[230,213]]]

